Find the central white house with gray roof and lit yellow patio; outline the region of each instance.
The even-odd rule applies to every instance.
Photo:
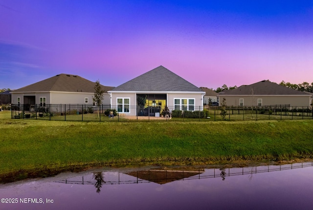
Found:
[[[108,91],[111,105],[129,115],[158,116],[167,106],[172,110],[203,109],[205,92],[172,71],[159,66]],[[130,107],[138,109],[130,109]],[[141,109],[139,109],[139,107]],[[156,114],[155,114],[156,113]]]

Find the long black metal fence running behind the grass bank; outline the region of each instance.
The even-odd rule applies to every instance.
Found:
[[[313,119],[312,107],[92,106],[12,104],[11,118],[64,121],[219,121]]]

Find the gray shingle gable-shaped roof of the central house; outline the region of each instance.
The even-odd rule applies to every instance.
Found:
[[[145,92],[202,92],[200,88],[181,78],[172,71],[159,66],[114,88],[113,91]]]

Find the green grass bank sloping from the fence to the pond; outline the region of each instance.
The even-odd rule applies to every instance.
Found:
[[[87,165],[313,157],[313,120],[69,122],[0,112],[0,176]]]

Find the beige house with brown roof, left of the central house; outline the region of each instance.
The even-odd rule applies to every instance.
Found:
[[[94,104],[95,82],[77,75],[58,74],[43,81],[11,91],[12,104],[25,104],[24,110],[32,111],[35,104]],[[102,85],[105,91],[103,104],[110,104],[107,91],[113,87]]]

